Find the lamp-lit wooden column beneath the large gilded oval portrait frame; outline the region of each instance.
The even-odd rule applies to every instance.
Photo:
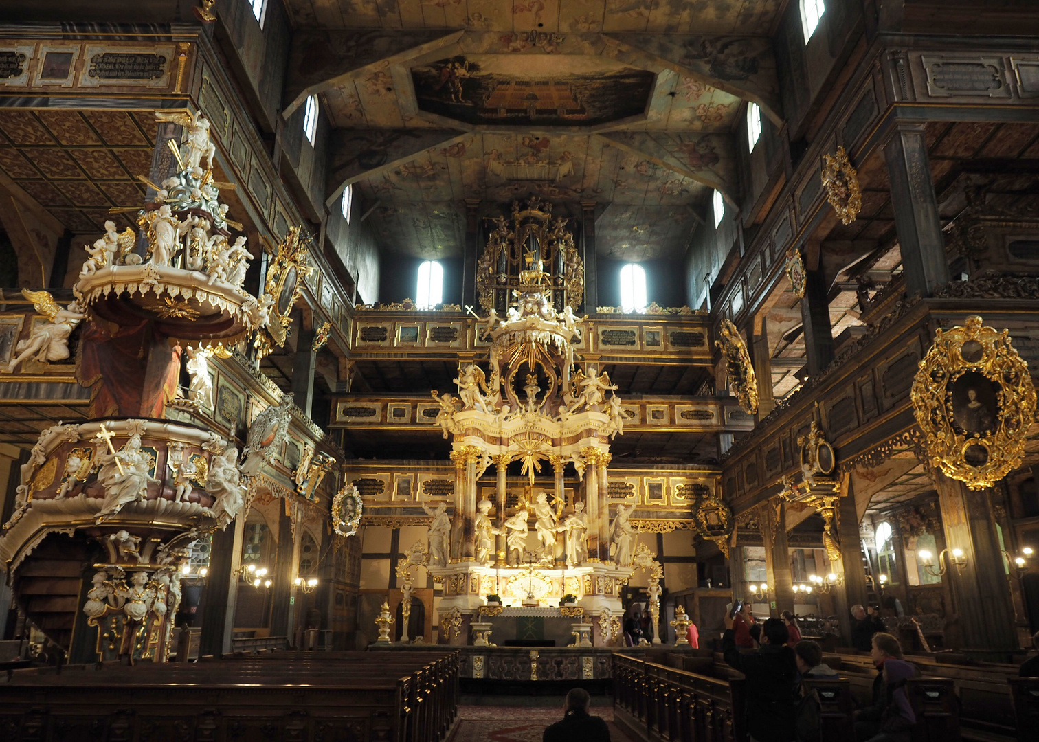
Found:
[[[989,650],[991,661],[1008,662],[998,656],[1017,647],[1014,607],[1004,568],[991,492],[967,489],[963,482],[933,475],[945,533],[950,564],[944,580],[952,586],[960,633],[965,648]],[[962,549],[966,564],[962,571],[951,564],[954,549]]]

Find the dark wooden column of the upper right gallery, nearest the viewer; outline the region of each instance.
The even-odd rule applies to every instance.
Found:
[[[949,283],[950,275],[924,125],[896,124],[895,134],[884,147],[884,157],[906,292],[909,296],[930,296],[935,287]]]

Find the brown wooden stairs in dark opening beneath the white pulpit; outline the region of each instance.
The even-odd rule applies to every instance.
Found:
[[[89,546],[63,534],[48,536],[15,572],[15,594],[26,616],[66,653],[80,616],[83,565]]]

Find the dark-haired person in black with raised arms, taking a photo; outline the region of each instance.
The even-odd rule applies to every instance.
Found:
[[[782,618],[762,625],[761,647],[742,653],[736,645],[735,611],[725,612],[721,647],[725,662],[746,677],[746,726],[751,742],[792,742],[801,699],[800,677]]]

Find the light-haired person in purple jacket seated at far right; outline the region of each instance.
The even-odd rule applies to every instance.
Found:
[[[909,742],[916,717],[909,707],[905,685],[909,678],[916,675],[916,667],[905,661],[899,640],[883,632],[873,635],[870,657],[877,666],[873,704],[855,712],[855,739],[861,742]]]

